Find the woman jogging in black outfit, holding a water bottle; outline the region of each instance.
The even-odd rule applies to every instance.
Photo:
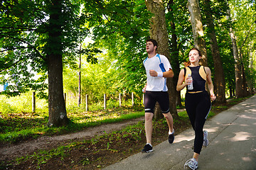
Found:
[[[211,79],[210,69],[199,64],[199,60],[201,60],[200,50],[192,48],[188,57],[189,62],[184,69],[181,69],[178,75],[176,90],[181,91],[187,86],[185,107],[193,130],[195,131],[193,158],[189,159],[184,164],[184,167],[188,166],[191,169],[197,169],[198,156],[202,146],[208,145],[208,132],[206,130],[203,131],[203,125],[210,112],[210,100],[214,101],[216,96],[213,93],[213,81]],[[206,81],[210,96],[208,91],[206,91]]]

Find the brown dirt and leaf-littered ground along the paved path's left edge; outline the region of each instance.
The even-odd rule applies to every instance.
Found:
[[[241,102],[241,101],[239,101]],[[232,103],[225,103],[223,107],[215,107],[211,111],[220,113],[231,106]],[[128,125],[141,122],[144,123],[144,117],[134,120],[125,120],[121,123],[111,123],[100,125],[94,128],[87,128],[81,132],[74,132],[66,135],[56,135],[52,137],[39,137],[35,140],[26,140],[11,145],[0,146],[0,169],[102,169],[105,166],[119,162],[132,154],[138,153],[145,145],[144,132],[140,133],[142,140],[132,139],[132,136],[119,137],[119,140],[106,139],[106,137],[98,138],[93,143],[93,137],[110,134],[111,132],[122,130]],[[188,121],[179,121],[181,123],[174,124],[176,135],[191,128]],[[110,138],[110,137],[109,137]],[[168,127],[158,125],[154,127],[152,134],[153,144],[157,145],[168,140]],[[90,141],[90,142],[85,142]],[[70,147],[70,144],[74,146]],[[40,153],[43,150],[52,150],[60,146],[67,146],[65,153],[50,157],[46,162],[38,162],[37,159],[30,159],[30,155]],[[57,151],[56,151],[57,152]],[[17,162],[18,157],[27,157],[22,162]],[[48,157],[48,155],[45,155]]]

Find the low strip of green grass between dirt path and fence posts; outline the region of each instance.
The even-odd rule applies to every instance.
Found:
[[[71,123],[66,127],[48,128],[46,113],[11,113],[1,115],[0,118],[0,142],[18,142],[28,138],[36,138],[42,135],[60,135],[68,132],[76,132],[84,128],[107,123],[117,123],[123,120],[139,118],[143,111],[133,108],[112,109],[87,113],[68,113]]]

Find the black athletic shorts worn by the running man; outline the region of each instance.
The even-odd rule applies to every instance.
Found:
[[[162,113],[169,113],[169,94],[167,91],[146,91],[145,113],[154,113],[156,101],[159,103]]]

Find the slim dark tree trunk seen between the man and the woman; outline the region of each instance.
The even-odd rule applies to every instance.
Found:
[[[174,6],[174,0],[170,0],[168,2],[168,12],[171,13],[171,15],[174,15],[174,11],[172,11],[171,6]],[[174,73],[174,87],[177,86],[178,83],[178,73],[181,71],[179,67],[179,60],[178,60],[178,43],[177,43],[177,35],[175,33],[175,23],[170,22],[171,25],[171,67],[173,67]],[[181,91],[176,91],[176,105],[182,106],[181,104]]]

